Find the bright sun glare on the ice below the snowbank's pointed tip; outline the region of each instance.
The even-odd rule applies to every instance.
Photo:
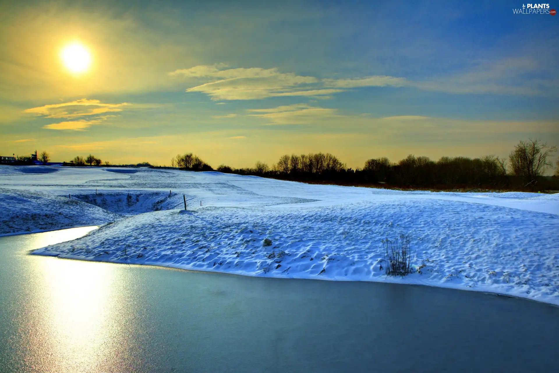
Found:
[[[36,289],[44,298],[41,324],[50,337],[42,342],[57,351],[57,370],[100,365],[107,360],[107,351],[113,350],[111,330],[117,303],[112,299],[112,267],[63,260],[36,264],[37,275],[44,278]]]

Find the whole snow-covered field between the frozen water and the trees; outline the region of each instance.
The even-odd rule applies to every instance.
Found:
[[[0,166],[0,187],[0,233],[113,221],[35,254],[424,284],[559,305],[559,193],[404,192],[219,172],[41,166]],[[179,213],[183,194],[187,211]],[[410,235],[418,272],[386,277],[381,239],[401,233]]]

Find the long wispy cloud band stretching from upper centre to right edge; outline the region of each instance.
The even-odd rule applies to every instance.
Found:
[[[449,76],[426,77],[417,81],[390,75],[319,79],[282,73],[278,68],[229,69],[225,64],[198,65],[175,70],[169,75],[198,83],[187,88],[186,92],[202,92],[212,100],[260,100],[281,96],[331,98],[334,93],[361,87],[414,87],[425,91],[507,95],[544,95],[557,91],[557,79],[538,80],[528,76],[536,67],[532,60],[508,59],[480,64],[477,68],[454,72]]]

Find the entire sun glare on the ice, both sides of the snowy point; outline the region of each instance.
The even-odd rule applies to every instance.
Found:
[[[22,235],[27,249],[79,238],[93,227]],[[13,237],[16,238],[16,237]],[[20,338],[18,360],[40,372],[127,372],[134,370],[133,324],[123,289],[122,269],[52,257],[21,256],[28,262],[19,280],[26,291],[16,294],[22,312],[15,315]],[[0,363],[0,365],[2,365]],[[2,369],[0,369],[2,371]],[[14,369],[13,371],[20,371]]]

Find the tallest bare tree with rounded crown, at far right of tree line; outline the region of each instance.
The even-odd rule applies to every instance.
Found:
[[[512,172],[532,183],[547,167],[553,167],[547,158],[556,151],[557,147],[549,147],[539,139],[520,140],[509,155]]]

